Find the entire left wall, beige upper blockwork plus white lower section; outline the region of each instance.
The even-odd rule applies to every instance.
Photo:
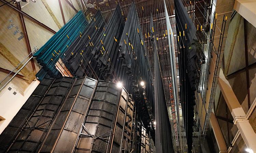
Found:
[[[8,0],[9,1],[9,0]],[[60,0],[62,4],[63,14],[65,16],[66,23],[76,14],[73,8],[66,2],[66,0]],[[43,2],[47,3],[47,7],[44,5]],[[70,0],[69,0],[70,2]],[[72,4],[76,8],[76,10],[80,10],[77,0],[71,0]],[[3,3],[0,2],[0,5]],[[27,3],[20,2],[21,6],[24,6]],[[17,4],[13,4],[17,6]],[[57,22],[60,24],[60,28],[64,25],[59,1],[58,0],[37,0],[35,3],[30,2],[26,6],[22,8],[22,11],[27,13],[28,15],[32,16],[39,22],[45,24],[49,28],[53,29],[54,31],[58,31],[59,27],[56,24],[56,20],[54,21],[53,15],[57,19]],[[52,12],[52,16],[49,12]],[[21,40],[18,38],[22,35],[20,32],[23,32],[22,22],[20,20],[19,13],[13,10],[11,7],[4,5],[0,7],[0,43],[9,51],[12,55],[9,60],[4,56],[5,50],[0,48],[0,67],[12,71],[16,65],[13,64],[12,59],[16,59],[18,61],[22,61],[28,55],[28,49],[26,46],[25,37]],[[51,31],[43,28],[39,24],[31,21],[29,18],[24,16],[24,21],[27,29],[28,39],[30,43],[31,50],[34,49],[35,46],[39,49],[42,47],[46,41],[51,38],[54,33]],[[14,24],[12,28],[8,27]],[[17,27],[17,28],[16,28]],[[14,35],[14,31],[18,31],[16,35]],[[25,63],[25,62],[24,62]],[[0,116],[5,118],[5,120],[0,122],[0,133],[4,130],[4,128],[9,124],[12,118],[17,114],[20,107],[26,102],[28,97],[31,95],[33,90],[39,84],[39,81],[35,79],[34,74],[39,71],[39,66],[36,60],[34,60],[34,64],[36,67],[36,71],[33,72],[31,63],[26,65],[26,70],[29,74],[32,74],[32,80],[34,81],[26,81],[24,79],[20,79],[15,77],[12,82],[6,86],[2,92],[0,92]],[[15,70],[17,71],[17,70]],[[24,73],[19,73],[24,75]],[[27,73],[26,73],[27,74]],[[7,74],[0,71],[0,81],[6,76]],[[12,76],[9,76],[10,79]],[[25,76],[28,77],[28,76]],[[6,79],[6,81],[8,80]],[[0,84],[0,87],[6,82]],[[11,87],[11,90],[8,90],[8,87]],[[17,94],[14,95],[13,92]]]

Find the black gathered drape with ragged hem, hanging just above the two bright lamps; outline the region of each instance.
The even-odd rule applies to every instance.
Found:
[[[150,65],[147,60],[143,34],[134,2],[131,4],[124,32],[119,43],[120,58],[124,60],[125,72],[120,80],[126,81],[132,89],[129,93],[138,100],[140,113],[144,115],[144,123],[150,125],[154,119],[154,87]],[[139,84],[143,81],[145,89]],[[144,92],[146,99],[141,99]]]

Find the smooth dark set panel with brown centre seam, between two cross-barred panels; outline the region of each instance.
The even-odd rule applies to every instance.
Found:
[[[40,152],[72,152],[95,86],[87,77],[75,81]]]

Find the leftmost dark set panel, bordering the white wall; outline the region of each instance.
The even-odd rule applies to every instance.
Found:
[[[14,116],[9,125],[4,129],[0,135],[0,152],[4,151],[8,144],[15,138],[21,126],[27,122],[29,116],[33,113],[40,100],[43,98],[45,92],[51,86],[54,79],[44,78],[40,84],[35,88],[31,96],[24,103],[19,112]]]

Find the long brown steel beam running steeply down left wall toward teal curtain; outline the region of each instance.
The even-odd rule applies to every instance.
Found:
[[[17,3],[17,5],[18,5],[18,9],[21,11],[20,4]],[[22,22],[22,28],[23,28],[23,32],[24,32],[24,35],[25,35],[25,40],[26,40],[26,45],[27,45],[27,49],[28,49],[28,54],[30,54],[31,53],[31,47],[30,47],[30,43],[29,43],[29,39],[28,39],[28,33],[27,33],[25,21],[24,21],[23,15],[21,13],[19,13],[19,17],[20,17],[20,21]],[[31,56],[32,56],[32,54],[29,55],[29,57],[31,57]],[[36,72],[35,64],[34,64],[34,59],[33,58],[31,59],[31,65],[32,65],[33,71]]]

